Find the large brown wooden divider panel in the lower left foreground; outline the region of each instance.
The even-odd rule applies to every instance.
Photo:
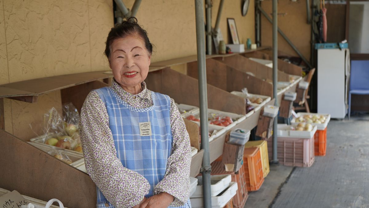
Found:
[[[96,207],[96,185],[89,175],[0,130],[0,187],[66,207]]]

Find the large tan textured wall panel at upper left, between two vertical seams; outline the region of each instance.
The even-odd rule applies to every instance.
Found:
[[[10,82],[90,71],[87,1],[4,1]]]

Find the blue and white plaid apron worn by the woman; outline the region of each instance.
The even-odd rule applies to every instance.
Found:
[[[106,104],[109,128],[113,134],[117,157],[123,166],[138,172],[149,181],[150,191],[145,197],[154,195],[154,187],[164,177],[168,157],[172,151],[170,128],[170,98],[152,92],[154,105],[134,108],[125,103],[110,87],[97,89]],[[141,136],[139,124],[151,123],[151,136]],[[114,208],[97,187],[97,208]],[[190,200],[180,208],[190,208]]]

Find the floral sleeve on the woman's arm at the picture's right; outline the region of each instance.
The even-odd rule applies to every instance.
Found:
[[[173,99],[170,99],[170,126],[172,129],[172,155],[168,158],[166,174],[154,188],[155,194],[166,192],[174,197],[170,206],[179,207],[190,194],[190,137]]]

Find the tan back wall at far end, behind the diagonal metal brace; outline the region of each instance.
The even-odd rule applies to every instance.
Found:
[[[272,1],[262,1],[262,8],[272,18]],[[303,56],[310,61],[310,24],[307,24],[305,1],[278,1],[278,27],[292,41]],[[262,46],[272,46],[272,24],[261,14]],[[298,56],[284,38],[278,34],[278,51]]]

